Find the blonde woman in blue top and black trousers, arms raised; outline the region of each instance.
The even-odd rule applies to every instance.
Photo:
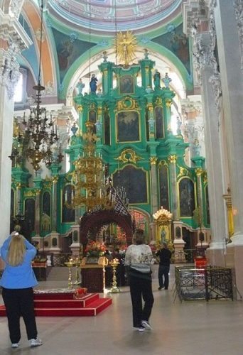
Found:
[[[21,339],[20,317],[26,324],[31,347],[42,345],[37,337],[36,317],[33,302],[33,286],[37,280],[31,262],[36,248],[16,231],[4,241],[0,249],[6,268],[0,280],[3,299],[9,323],[12,348],[18,347]]]

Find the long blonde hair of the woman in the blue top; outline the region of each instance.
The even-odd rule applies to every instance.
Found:
[[[8,263],[11,266],[18,266],[23,263],[23,258],[26,255],[26,244],[21,234],[12,236],[9,243]]]

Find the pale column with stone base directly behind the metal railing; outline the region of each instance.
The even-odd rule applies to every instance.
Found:
[[[222,151],[220,146],[220,111],[217,109],[216,82],[217,77],[220,92],[220,75],[216,72],[215,58],[210,33],[197,36],[201,58],[202,107],[205,126],[205,153],[207,163],[208,196],[210,204],[211,243],[207,250],[210,264],[225,265],[225,239],[227,237],[226,207],[222,195],[224,194],[224,173],[222,165]]]

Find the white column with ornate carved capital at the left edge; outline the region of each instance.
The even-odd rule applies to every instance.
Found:
[[[16,56],[31,45],[17,16],[23,1],[0,11],[0,244],[9,234],[11,202],[11,155],[13,139],[13,92],[18,80]]]

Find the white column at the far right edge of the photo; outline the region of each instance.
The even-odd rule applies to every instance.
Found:
[[[217,0],[215,27],[222,81],[222,106],[225,114],[225,129],[227,131],[227,150],[230,157],[229,179],[234,217],[232,243],[243,245],[243,71],[241,67],[242,48],[240,45],[242,38],[240,39],[238,31],[239,20],[237,21],[233,6],[237,3],[239,4],[240,1]]]

